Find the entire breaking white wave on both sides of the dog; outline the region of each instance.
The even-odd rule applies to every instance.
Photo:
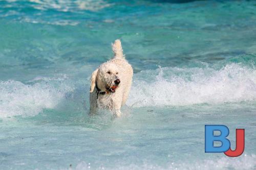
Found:
[[[36,115],[44,108],[55,108],[62,100],[81,103],[82,98],[89,98],[89,88],[86,87],[89,87],[89,79],[78,83],[77,79],[71,80],[66,75],[36,77],[26,84],[0,81],[0,118]],[[69,95],[72,99],[67,98]],[[230,63],[221,69],[206,65],[143,70],[134,75],[126,104],[130,107],[163,107],[255,100],[256,69]]]

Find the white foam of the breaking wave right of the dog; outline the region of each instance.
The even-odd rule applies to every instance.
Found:
[[[141,71],[135,75],[127,105],[183,106],[255,100],[256,70],[232,63],[219,70],[206,66]]]

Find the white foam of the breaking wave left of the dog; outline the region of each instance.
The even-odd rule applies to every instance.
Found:
[[[59,83],[59,82],[58,82]],[[54,108],[72,88],[41,81],[26,85],[18,81],[0,81],[0,118],[35,115],[44,108]]]

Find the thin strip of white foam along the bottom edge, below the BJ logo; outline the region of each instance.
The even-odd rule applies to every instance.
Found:
[[[205,160],[190,160],[180,162],[171,162],[167,167],[161,167],[150,163],[144,163],[143,165],[130,164],[129,166],[119,166],[121,163],[117,163],[115,168],[108,168],[101,165],[96,169],[120,169],[120,170],[137,170],[137,169],[181,169],[181,170],[219,170],[219,169],[254,169],[256,168],[256,156],[255,155],[242,155],[238,158],[221,157],[219,159],[205,159]],[[80,162],[74,169],[86,170],[91,169],[91,164],[84,161]]]

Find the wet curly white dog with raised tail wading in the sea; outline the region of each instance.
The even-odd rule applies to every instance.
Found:
[[[132,85],[133,68],[125,60],[121,41],[112,44],[114,57],[101,64],[92,74],[90,89],[90,111],[98,108],[112,110],[120,116]]]

